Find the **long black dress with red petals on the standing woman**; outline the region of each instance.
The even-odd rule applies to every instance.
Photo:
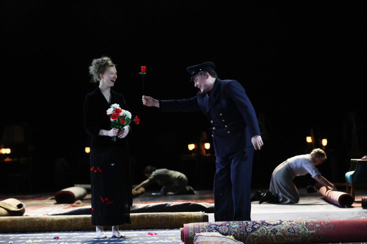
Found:
[[[122,94],[111,89],[111,104],[128,110]],[[128,143],[126,138],[112,141],[100,136],[101,129],[111,130],[107,109],[111,107],[99,87],[87,94],[84,102],[84,128],[91,135],[92,225],[131,224],[133,203]]]

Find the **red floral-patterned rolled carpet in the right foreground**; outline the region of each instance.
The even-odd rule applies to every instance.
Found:
[[[196,233],[218,232],[246,244],[365,242],[365,230],[367,219],[189,223],[181,229],[181,241],[193,244]]]

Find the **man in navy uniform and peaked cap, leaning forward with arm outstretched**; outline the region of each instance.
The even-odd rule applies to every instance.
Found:
[[[213,62],[187,67],[200,91],[182,100],[143,96],[143,104],[160,111],[202,110],[210,120],[216,156],[215,221],[251,220],[251,173],[254,149],[263,145],[255,110],[236,80],[220,80]]]

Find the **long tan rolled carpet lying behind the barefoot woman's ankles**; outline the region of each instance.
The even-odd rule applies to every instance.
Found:
[[[120,230],[180,228],[186,223],[208,222],[203,212],[139,213],[130,215],[131,224]],[[0,217],[0,232],[93,231],[90,215]]]

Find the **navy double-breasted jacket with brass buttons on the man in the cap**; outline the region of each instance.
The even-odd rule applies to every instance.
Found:
[[[216,79],[210,94],[182,100],[160,100],[161,111],[202,110],[212,126],[215,155],[252,147],[251,137],[260,135],[255,110],[245,89],[236,80]]]

